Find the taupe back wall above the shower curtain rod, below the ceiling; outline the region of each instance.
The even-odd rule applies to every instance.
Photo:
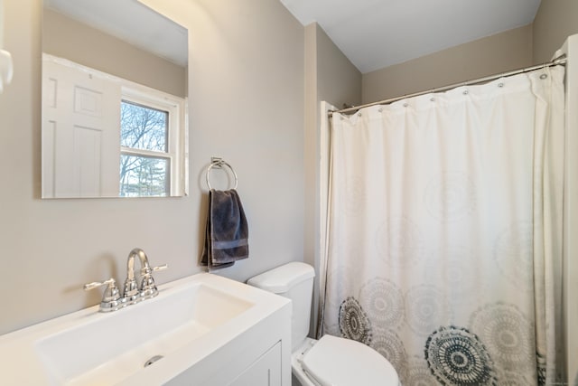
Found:
[[[532,63],[532,25],[363,74],[363,103],[451,85]]]

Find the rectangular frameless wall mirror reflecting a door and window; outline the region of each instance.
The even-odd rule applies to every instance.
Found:
[[[137,0],[44,0],[42,198],[188,192],[188,31]]]

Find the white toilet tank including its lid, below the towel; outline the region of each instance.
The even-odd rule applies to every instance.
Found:
[[[291,320],[292,349],[302,344],[307,334],[309,334],[314,277],[315,271],[312,266],[294,261],[247,280],[247,284],[250,286],[265,289],[291,299],[293,305]]]

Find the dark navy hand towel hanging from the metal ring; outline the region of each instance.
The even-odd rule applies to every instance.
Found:
[[[209,192],[207,230],[200,263],[210,269],[230,267],[249,257],[249,229],[235,189]]]

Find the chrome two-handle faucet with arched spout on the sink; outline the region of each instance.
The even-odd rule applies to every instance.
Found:
[[[140,286],[137,285],[135,279],[135,257],[138,257],[141,264]],[[130,251],[128,254],[128,259],[126,259],[125,291],[122,296],[117,288],[117,282],[114,278],[109,278],[108,280],[102,282],[95,281],[89,284],[85,284],[84,289],[88,291],[89,289],[106,285],[107,289],[105,290],[102,296],[102,301],[100,302],[100,312],[117,311],[118,309],[125,306],[130,306],[142,300],[156,297],[159,293],[159,290],[154,283],[153,272],[166,268],[166,264],[151,268],[144,250],[135,248]]]

